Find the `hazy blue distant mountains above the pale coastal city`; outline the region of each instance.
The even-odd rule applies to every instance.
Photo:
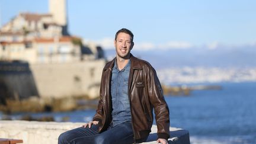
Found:
[[[256,46],[228,47],[216,49],[133,49],[134,56],[147,60],[155,69],[184,66],[202,66],[219,68],[256,67]],[[105,50],[108,59],[115,55],[114,49]]]

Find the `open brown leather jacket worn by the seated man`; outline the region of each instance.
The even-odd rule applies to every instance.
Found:
[[[111,123],[110,82],[114,60],[108,62],[101,77],[100,100],[93,120],[100,121],[100,132]],[[155,69],[144,61],[131,55],[128,95],[132,114],[134,139],[143,139],[151,132],[155,110],[158,137],[169,137],[169,109]]]

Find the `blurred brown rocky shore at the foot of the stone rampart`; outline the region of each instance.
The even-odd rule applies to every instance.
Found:
[[[5,100],[5,104],[0,104],[0,111],[4,114],[2,120],[12,120],[9,114],[27,113],[20,117],[20,120],[36,120],[36,121],[54,121],[53,117],[31,117],[28,113],[41,112],[61,112],[73,110],[96,109],[98,100],[90,99],[87,96],[80,97],[62,97],[62,98],[39,98],[30,97],[23,100]],[[62,121],[67,121],[63,118]]]

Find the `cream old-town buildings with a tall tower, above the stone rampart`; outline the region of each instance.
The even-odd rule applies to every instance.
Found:
[[[49,10],[49,14],[21,12],[0,28],[0,60],[65,63],[103,58],[98,57],[101,47],[85,47],[81,38],[68,33],[65,0],[50,0]]]

